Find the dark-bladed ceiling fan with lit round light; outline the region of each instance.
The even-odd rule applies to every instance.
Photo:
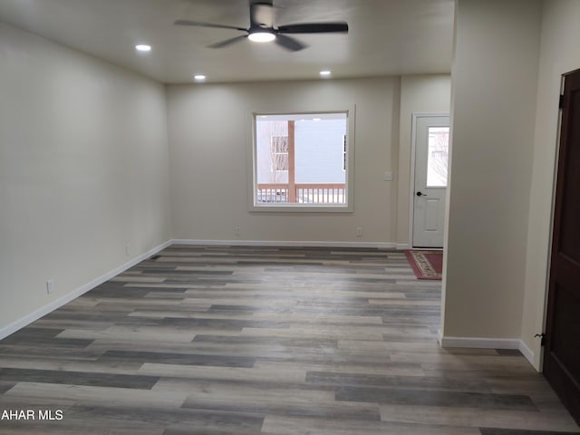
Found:
[[[245,34],[240,34],[233,38],[212,43],[211,48],[222,48],[232,43],[237,43],[244,39],[255,42],[275,41],[278,45],[286,50],[297,52],[306,47],[304,43],[296,40],[286,34],[331,34],[331,33],[348,33],[348,24],[343,21],[332,23],[303,23],[303,24],[286,24],[274,25],[274,6],[271,2],[252,1],[250,0],[250,26],[245,29],[227,24],[204,23],[200,21],[177,20],[177,25],[193,25],[199,27],[217,27],[220,29],[232,29]]]

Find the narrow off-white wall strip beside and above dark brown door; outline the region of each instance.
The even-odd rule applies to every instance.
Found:
[[[522,340],[534,351],[540,366],[544,331],[547,265],[551,239],[553,188],[558,134],[558,95],[561,76],[580,68],[580,2],[546,0],[543,4],[542,43],[537,87],[536,139],[527,230],[526,292]]]

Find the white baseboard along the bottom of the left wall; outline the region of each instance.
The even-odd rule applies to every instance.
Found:
[[[32,324],[34,321],[40,319],[43,315],[53,312],[54,310],[60,308],[64,304],[68,304],[69,302],[73,301],[73,299],[79,297],[80,295],[84,295],[97,285],[102,285],[102,283],[110,280],[113,276],[121,274],[121,272],[124,272],[130,267],[137,265],[138,263],[145,260],[146,258],[149,258],[150,256],[154,256],[155,254],[160,252],[160,250],[169,247],[169,245],[171,245],[170,240],[168,242],[161,244],[159,247],[154,247],[150,249],[149,251],[145,252],[144,254],[141,254],[140,256],[136,256],[135,258],[131,259],[131,261],[128,261],[127,263],[119,267],[115,267],[106,274],[101,275],[93,279],[92,281],[88,282],[87,284],[80,286],[79,288],[73,290],[71,293],[59,297],[50,304],[44,305],[42,308],[37,309],[33,313],[25,315],[23,318],[15,321],[14,323],[8,324],[4,328],[0,329],[0,340],[2,340],[3,338],[7,337],[12,333],[15,333],[19,329],[24,328],[24,326]]]

